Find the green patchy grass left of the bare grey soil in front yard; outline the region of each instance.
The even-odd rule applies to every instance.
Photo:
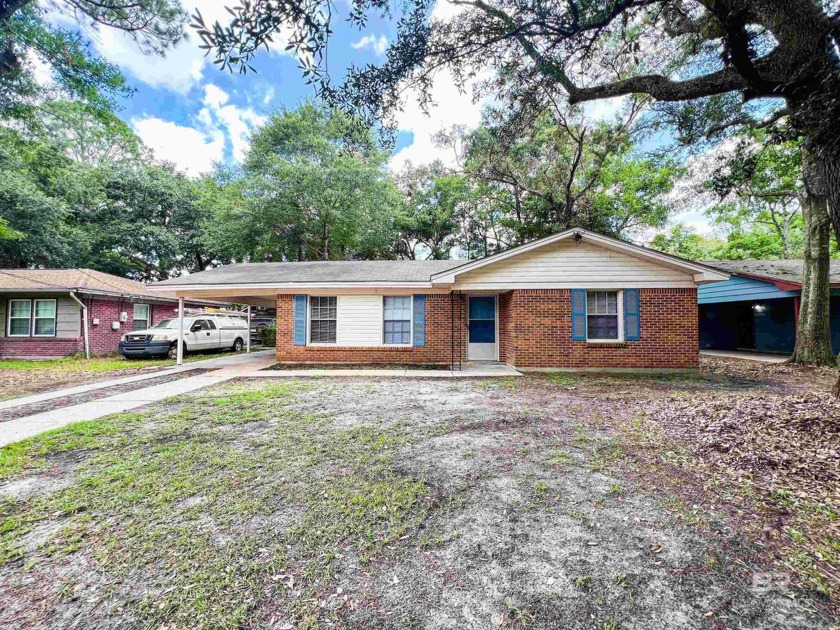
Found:
[[[425,436],[290,408],[311,387],[234,384],[0,449],[6,478],[81,460],[70,485],[0,503],[0,565],[22,576],[90,554],[112,597],[121,581],[138,585],[142,596],[115,605],[144,627],[253,624],[267,585],[296,627],[335,621],[318,597],[339,556],[366,565],[396,553],[454,502],[401,466],[399,449]],[[24,551],[42,524],[57,527]],[[71,592],[63,579],[52,586]]]

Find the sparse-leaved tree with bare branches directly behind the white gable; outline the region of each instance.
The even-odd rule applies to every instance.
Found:
[[[664,197],[680,169],[638,153],[640,106],[612,123],[588,122],[567,107],[525,124],[487,110],[478,129],[442,135],[483,200],[477,208],[493,215],[492,238],[482,237],[490,247],[469,249],[493,253],[571,227],[626,237],[664,226]]]

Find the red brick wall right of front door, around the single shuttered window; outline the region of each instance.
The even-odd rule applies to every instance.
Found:
[[[639,297],[641,339],[604,344],[572,341],[570,290],[513,291],[505,361],[523,368],[696,368],[697,290],[641,289]]]

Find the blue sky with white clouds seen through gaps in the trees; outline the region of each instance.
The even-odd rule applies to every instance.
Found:
[[[190,13],[198,8],[208,24],[229,17],[224,10],[227,0],[183,1]],[[329,70],[335,81],[350,64],[384,61],[387,44],[395,35],[394,24],[379,18],[372,18],[360,32],[345,21],[346,10],[342,14],[341,8],[346,9],[346,4],[339,1],[337,6],[329,49]],[[433,16],[445,19],[457,11],[447,0],[438,0]],[[270,50],[258,54],[253,62],[256,73],[242,75],[219,71],[198,48],[192,30],[189,39],[165,58],[142,54],[127,36],[114,30],[87,35],[99,54],[121,68],[135,90],[121,103],[119,114],[158,159],[175,163],[191,176],[209,171],[216,162],[241,160],[249,133],[272,111],[294,107],[313,95],[297,59],[284,50],[281,38]],[[453,125],[471,128],[479,123],[481,104],[473,102],[472,85],[459,86],[442,72],[436,77],[433,97],[437,105],[427,116],[416,99],[407,96],[404,110],[397,116],[400,133],[392,170],[402,169],[407,162],[442,159],[452,163],[454,156],[436,147],[432,136]],[[615,100],[592,103],[587,105],[587,115],[610,117],[619,105]],[[678,219],[701,231],[709,229],[707,218],[696,211],[687,209]]]

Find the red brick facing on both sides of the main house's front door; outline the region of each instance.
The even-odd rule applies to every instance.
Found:
[[[301,363],[436,363],[466,360],[466,299],[426,297],[426,345],[338,347],[294,345],[294,296],[277,296],[277,360]],[[642,289],[641,339],[617,344],[572,341],[571,291],[523,289],[499,295],[499,358],[521,368],[697,367],[697,290]],[[452,334],[454,331],[454,335]]]

